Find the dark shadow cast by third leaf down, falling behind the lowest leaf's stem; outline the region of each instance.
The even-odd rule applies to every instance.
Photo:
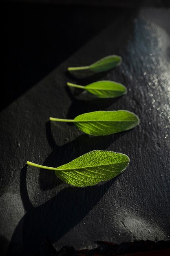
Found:
[[[48,121],[46,122],[46,137],[53,151],[46,158],[43,165],[56,167],[71,162],[73,159],[92,150],[104,150],[123,135],[124,133],[119,133],[115,135],[96,137],[83,134],[73,141],[70,141],[62,146],[57,146],[51,132],[51,122]],[[56,177],[53,171],[50,171],[48,175],[46,175],[46,172],[47,171],[45,169],[40,169],[39,184],[42,191],[53,189],[63,183],[59,178]]]

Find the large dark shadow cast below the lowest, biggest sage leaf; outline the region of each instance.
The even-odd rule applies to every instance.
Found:
[[[15,228],[9,245],[9,255],[13,255],[13,252],[18,255],[39,255],[48,241],[56,243],[75,227],[117,179],[116,177],[108,182],[84,188],[66,187],[50,200],[34,207],[27,191],[26,172],[27,166],[24,166],[20,173],[20,195],[26,213]],[[40,179],[42,178],[44,177],[40,175]],[[22,252],[21,245],[18,245],[21,239]]]

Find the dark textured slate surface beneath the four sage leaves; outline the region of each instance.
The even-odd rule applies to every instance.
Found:
[[[170,15],[143,9],[119,16],[102,33],[0,113],[0,234],[3,253],[45,255],[47,241],[92,249],[96,241],[170,239]],[[120,67],[84,81],[68,66],[120,54]],[[123,83],[119,99],[92,99],[66,88],[96,79]],[[126,109],[141,120],[133,130],[90,137],[49,116],[74,118],[95,110]],[[25,166],[67,163],[94,149],[130,157],[126,171],[86,188],[64,184],[52,171]]]

